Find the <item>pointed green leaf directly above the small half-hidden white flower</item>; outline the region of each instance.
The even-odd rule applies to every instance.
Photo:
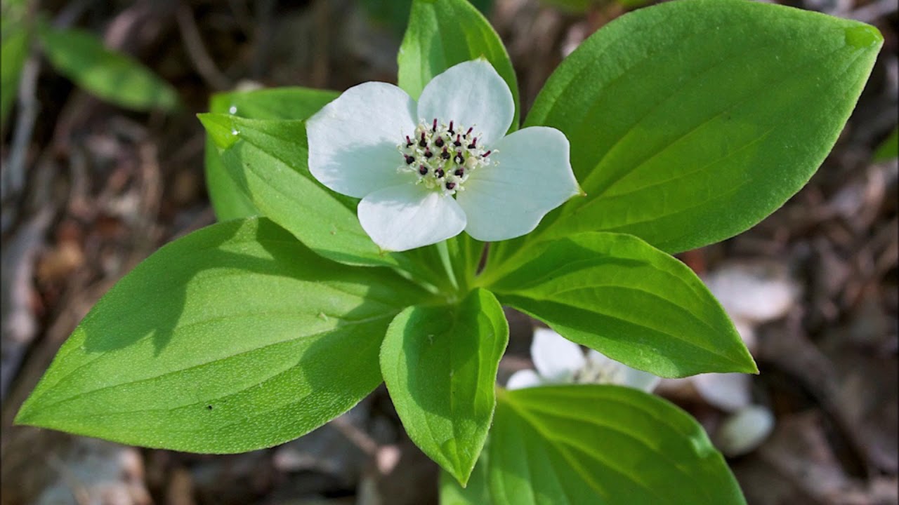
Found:
[[[696,274],[636,236],[588,232],[531,253],[482,285],[568,340],[661,377],[758,372]]]

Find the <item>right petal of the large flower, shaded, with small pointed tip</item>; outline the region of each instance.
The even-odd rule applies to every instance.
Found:
[[[468,235],[484,242],[533,231],[547,212],[580,192],[568,139],[556,128],[524,128],[496,143],[492,164],[472,172],[457,194]]]

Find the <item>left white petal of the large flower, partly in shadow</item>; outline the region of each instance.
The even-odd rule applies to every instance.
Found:
[[[309,172],[331,190],[355,198],[396,186],[396,149],[414,133],[415,102],[393,84],[353,86],[306,122]]]

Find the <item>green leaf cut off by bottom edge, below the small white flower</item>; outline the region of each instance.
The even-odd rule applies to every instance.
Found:
[[[628,387],[503,392],[489,447],[496,505],[745,503],[699,423]]]

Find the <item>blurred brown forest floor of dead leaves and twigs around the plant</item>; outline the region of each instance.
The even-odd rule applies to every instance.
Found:
[[[804,190],[752,230],[681,260],[702,275],[741,271],[750,282],[796,288],[783,316],[756,329],[761,375],[752,377],[753,402],[774,412],[776,427],[751,454],[730,459],[750,503],[895,504],[899,167],[895,159],[871,160],[896,125],[896,2],[790,1],[877,25],[886,39],[877,66],[832,155]],[[41,8],[153,68],[174,84],[187,111],[123,111],[31,56],[40,72],[22,94],[38,114],[31,125],[16,111],[2,147],[4,162],[24,156],[25,184],[2,202],[0,502],[436,503],[437,467],[405,437],[383,386],[307,437],[241,455],[122,447],[12,427],[96,300],[160,245],[214,221],[203,187],[205,137],[194,117],[210,93],[248,82],[343,90],[394,81],[405,24],[373,17],[350,0],[71,0]],[[489,17],[518,71],[525,107],[565,54],[624,12],[618,4],[576,14],[538,0],[495,0]],[[16,135],[25,141],[14,143]],[[719,297],[743,296],[739,283],[724,289]],[[501,379],[530,366],[531,323],[511,316]],[[721,412],[695,393],[668,392],[713,430]]]

